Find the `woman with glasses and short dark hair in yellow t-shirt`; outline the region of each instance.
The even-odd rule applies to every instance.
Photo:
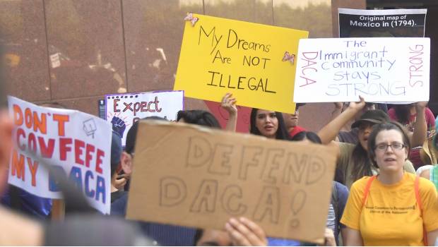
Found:
[[[399,123],[379,123],[369,134],[369,159],[379,173],[351,187],[341,222],[348,246],[424,246],[438,236],[438,200],[427,179],[403,171],[410,140]],[[425,232],[424,232],[425,231]],[[424,236],[424,237],[423,237]]]

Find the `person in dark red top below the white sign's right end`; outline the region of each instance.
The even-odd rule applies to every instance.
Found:
[[[389,118],[403,124],[408,131],[413,132],[415,129],[415,120],[418,113],[425,116],[427,130],[432,131],[435,128],[434,114],[429,107],[418,107],[418,104],[395,104],[388,110]]]

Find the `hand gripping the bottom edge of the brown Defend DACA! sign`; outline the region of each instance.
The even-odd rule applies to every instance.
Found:
[[[231,218],[225,224],[225,230],[230,235],[233,246],[267,246],[266,234],[258,224],[251,220],[240,217]]]

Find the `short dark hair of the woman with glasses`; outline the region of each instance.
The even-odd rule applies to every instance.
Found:
[[[374,167],[377,167],[377,164],[375,162],[377,135],[381,131],[391,131],[391,130],[396,130],[401,133],[403,137],[403,145],[405,145],[406,150],[408,150],[408,157],[409,157],[410,142],[408,137],[408,131],[406,131],[406,128],[403,127],[400,123],[395,121],[391,121],[389,123],[379,123],[372,128],[372,132],[369,134],[369,138],[368,138],[368,155]]]

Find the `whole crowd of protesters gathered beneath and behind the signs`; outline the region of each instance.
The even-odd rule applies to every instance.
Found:
[[[247,217],[230,217],[223,229],[125,220],[129,181],[135,172],[135,143],[141,141],[136,138],[139,121],[129,128],[124,148],[117,128],[112,133],[112,217],[102,216],[86,206],[85,200],[78,199],[80,195],[63,191],[66,217],[61,222],[49,220],[55,206],[52,200],[6,185],[13,123],[6,107],[3,83],[0,81],[1,245],[313,245],[270,238],[259,224]],[[385,112],[362,97],[359,100],[336,103],[331,121],[318,133],[298,125],[298,111],[303,104],[297,104],[295,114],[252,109],[249,133],[336,147],[336,174],[327,208],[325,246],[438,244],[437,124],[432,111],[427,108],[427,102],[396,105]],[[222,99],[221,106],[230,115],[226,131],[236,130],[236,102],[231,94]],[[140,121],[150,119],[167,121],[158,116]],[[202,110],[180,111],[177,121],[221,128],[213,114]],[[434,147],[425,150],[430,142]]]

